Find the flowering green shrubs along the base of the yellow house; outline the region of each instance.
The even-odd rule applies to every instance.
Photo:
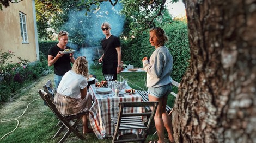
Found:
[[[51,73],[51,68],[48,67],[47,59],[40,54],[41,61],[30,63],[28,60],[18,57],[20,62],[11,63],[8,59],[14,56],[11,51],[0,53],[0,102],[9,101],[10,95],[13,92],[27,86],[29,83],[38,79],[42,75]]]

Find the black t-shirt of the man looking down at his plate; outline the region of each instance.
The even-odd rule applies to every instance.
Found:
[[[66,49],[70,49],[70,47],[66,46]],[[59,51],[63,51],[63,49],[60,49],[57,45],[55,45],[48,50],[48,55],[55,57]],[[53,64],[54,74],[62,76],[71,70],[72,67],[70,62],[69,54],[64,54]]]

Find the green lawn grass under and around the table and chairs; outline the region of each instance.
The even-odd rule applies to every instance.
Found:
[[[101,66],[90,66],[90,74],[97,75],[97,79],[103,80],[103,75],[101,73]],[[144,75],[139,74],[125,74],[124,76],[129,77],[129,82],[133,83],[132,88],[137,89],[134,85],[143,87]],[[51,79],[53,82],[53,74],[43,76],[34,82],[32,85],[21,89],[19,94],[14,95],[14,98],[7,103],[1,103],[0,105],[0,120],[17,118],[22,115],[23,111],[27,108],[27,105],[31,103],[25,113],[17,118],[19,120],[19,126],[17,129],[8,134],[6,137],[0,140],[0,142],[58,142],[63,134],[57,139],[52,139],[53,135],[58,131],[59,126],[56,126],[58,120],[56,116],[52,113],[50,108],[44,106],[42,99],[38,94],[38,90],[42,89],[42,86]],[[168,105],[173,107],[173,99],[168,99]],[[11,120],[8,122],[0,122],[0,138],[5,134],[9,133],[15,129],[17,125],[16,120]],[[82,122],[79,125],[78,131],[82,132]],[[155,132],[154,125],[150,129],[148,138],[149,140],[157,139],[157,135],[153,135]],[[97,139],[94,133],[89,133],[85,135],[86,140],[81,140],[74,133],[71,133],[65,142],[111,142],[112,138],[108,139]]]

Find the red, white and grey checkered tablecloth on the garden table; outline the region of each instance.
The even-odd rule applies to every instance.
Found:
[[[110,137],[114,135],[115,126],[111,121],[111,118],[114,116],[118,116],[119,112],[119,102],[141,102],[141,95],[138,93],[133,94],[124,94],[124,97],[117,96],[108,96],[108,94],[114,94],[112,91],[108,94],[99,94],[96,93],[95,85],[90,85],[89,88],[90,94],[93,96],[93,105],[89,110],[89,120],[90,125],[93,128],[94,133],[97,138],[103,139],[105,137]],[[144,112],[144,108],[142,107],[131,107],[125,108],[124,113],[136,113],[136,112]],[[121,134],[125,133],[135,133],[136,131],[125,131]]]

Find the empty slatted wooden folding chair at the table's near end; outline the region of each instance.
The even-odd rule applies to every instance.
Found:
[[[144,142],[147,139],[149,126],[155,116],[158,102],[120,102],[118,117],[111,120],[115,125],[115,132],[112,142]],[[123,113],[127,107],[153,107],[151,112],[144,113]],[[144,125],[143,116],[149,117],[147,126]],[[136,135],[127,134],[120,136],[119,133],[124,130],[136,129]]]

